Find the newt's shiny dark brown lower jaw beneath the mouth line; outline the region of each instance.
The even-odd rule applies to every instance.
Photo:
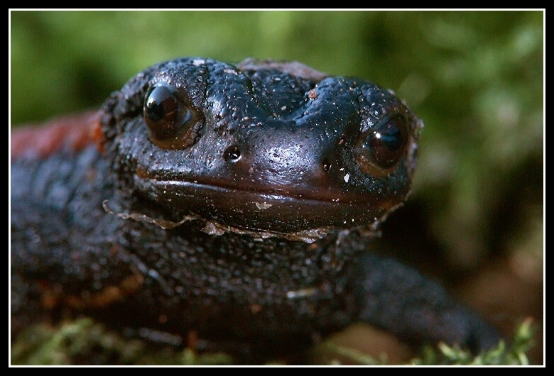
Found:
[[[178,209],[227,228],[298,233],[330,227],[373,227],[401,203],[382,194],[265,192],[222,185],[136,176],[141,192],[168,209]],[[335,197],[335,198],[334,198]]]

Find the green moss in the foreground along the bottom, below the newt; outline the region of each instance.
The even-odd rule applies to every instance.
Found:
[[[533,345],[531,320],[517,328],[511,345],[501,341],[496,348],[474,356],[457,346],[440,343],[425,347],[410,365],[528,365]],[[327,364],[387,365],[386,355],[374,359],[359,350],[325,341],[314,354],[325,352]],[[320,359],[320,358],[319,358]],[[156,345],[124,338],[92,319],[77,319],[60,326],[35,325],[26,329],[11,346],[12,365],[231,365],[225,353],[198,354],[190,348]],[[273,363],[277,364],[277,363]]]

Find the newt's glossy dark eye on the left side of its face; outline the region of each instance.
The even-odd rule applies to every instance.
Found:
[[[192,145],[200,111],[188,105],[171,87],[153,87],[144,101],[144,121],[148,138],[164,149],[182,149]]]

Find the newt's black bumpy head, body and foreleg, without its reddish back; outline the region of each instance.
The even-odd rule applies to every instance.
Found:
[[[369,253],[410,191],[422,127],[391,92],[298,63],[183,58],[98,118],[99,145],[12,150],[12,333],[70,311],[175,343],[196,333],[244,362],[355,321],[474,352],[499,340]]]

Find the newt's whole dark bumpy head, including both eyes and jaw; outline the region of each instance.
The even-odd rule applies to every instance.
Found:
[[[225,228],[374,228],[411,189],[423,123],[389,90],[299,63],[163,62],[104,104],[127,189]]]

